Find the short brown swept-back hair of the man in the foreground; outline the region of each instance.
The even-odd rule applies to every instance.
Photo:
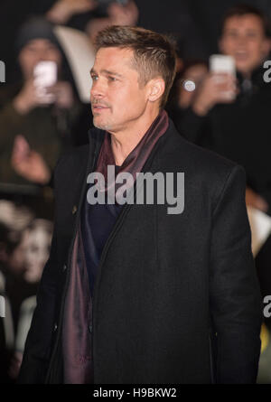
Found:
[[[109,26],[100,31],[96,49],[117,47],[134,51],[135,69],[139,73],[139,84],[161,76],[165,89],[161,108],[166,104],[176,74],[176,50],[172,40],[160,33],[132,26]]]

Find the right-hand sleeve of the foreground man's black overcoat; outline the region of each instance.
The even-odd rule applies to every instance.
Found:
[[[245,173],[235,166],[212,217],[210,311],[219,383],[254,383],[257,379],[262,302],[245,189]]]

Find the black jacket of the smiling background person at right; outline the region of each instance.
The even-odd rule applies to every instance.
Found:
[[[264,81],[265,71],[256,70],[251,80],[238,76],[235,102],[216,105],[206,117],[189,108],[175,122],[182,136],[241,164],[248,186],[266,199],[270,214],[271,84]]]

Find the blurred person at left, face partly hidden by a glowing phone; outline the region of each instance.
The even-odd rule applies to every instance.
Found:
[[[51,23],[33,18],[16,42],[22,79],[0,92],[0,182],[46,184],[79,113]],[[39,73],[39,66],[46,65]]]

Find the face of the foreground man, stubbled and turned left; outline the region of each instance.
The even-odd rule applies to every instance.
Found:
[[[132,67],[133,51],[101,48],[91,69],[90,101],[93,124],[109,132],[120,132],[135,125],[145,113],[147,85],[140,86]]]

